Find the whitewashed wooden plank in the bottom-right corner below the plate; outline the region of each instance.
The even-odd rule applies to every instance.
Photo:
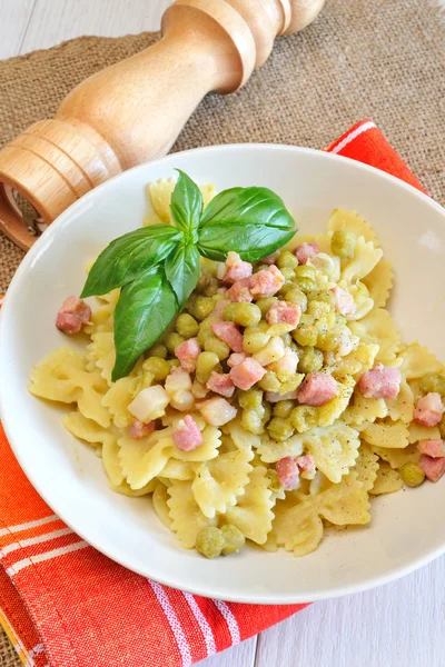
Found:
[[[380,588],[316,603],[263,633],[256,667],[442,667],[444,578],[442,557]]]

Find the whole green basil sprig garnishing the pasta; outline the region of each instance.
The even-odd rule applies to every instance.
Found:
[[[204,210],[198,186],[184,171],[170,210],[172,225],[150,225],[111,241],[81,293],[121,288],[115,310],[115,381],[132,370],[181,310],[198,282],[200,256],[224,261],[233,250],[258,261],[297,231],[283,200],[267,188],[224,190]]]

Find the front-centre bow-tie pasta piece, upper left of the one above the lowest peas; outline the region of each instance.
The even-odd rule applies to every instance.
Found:
[[[253,467],[249,461],[254,454],[249,449],[239,449],[220,454],[199,466],[191,490],[202,514],[212,519],[216,512],[224,514],[227,507],[237,502],[249,481]]]

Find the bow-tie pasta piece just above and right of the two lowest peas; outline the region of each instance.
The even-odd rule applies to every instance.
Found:
[[[274,500],[269,487],[270,478],[267,468],[264,466],[254,468],[245,494],[238,498],[236,506],[228,507],[224,515],[226,524],[239,528],[247,539],[257,545],[264,545],[271,530]]]

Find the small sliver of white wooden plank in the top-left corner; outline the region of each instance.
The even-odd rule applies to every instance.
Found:
[[[20,53],[36,0],[0,0],[0,59]]]

